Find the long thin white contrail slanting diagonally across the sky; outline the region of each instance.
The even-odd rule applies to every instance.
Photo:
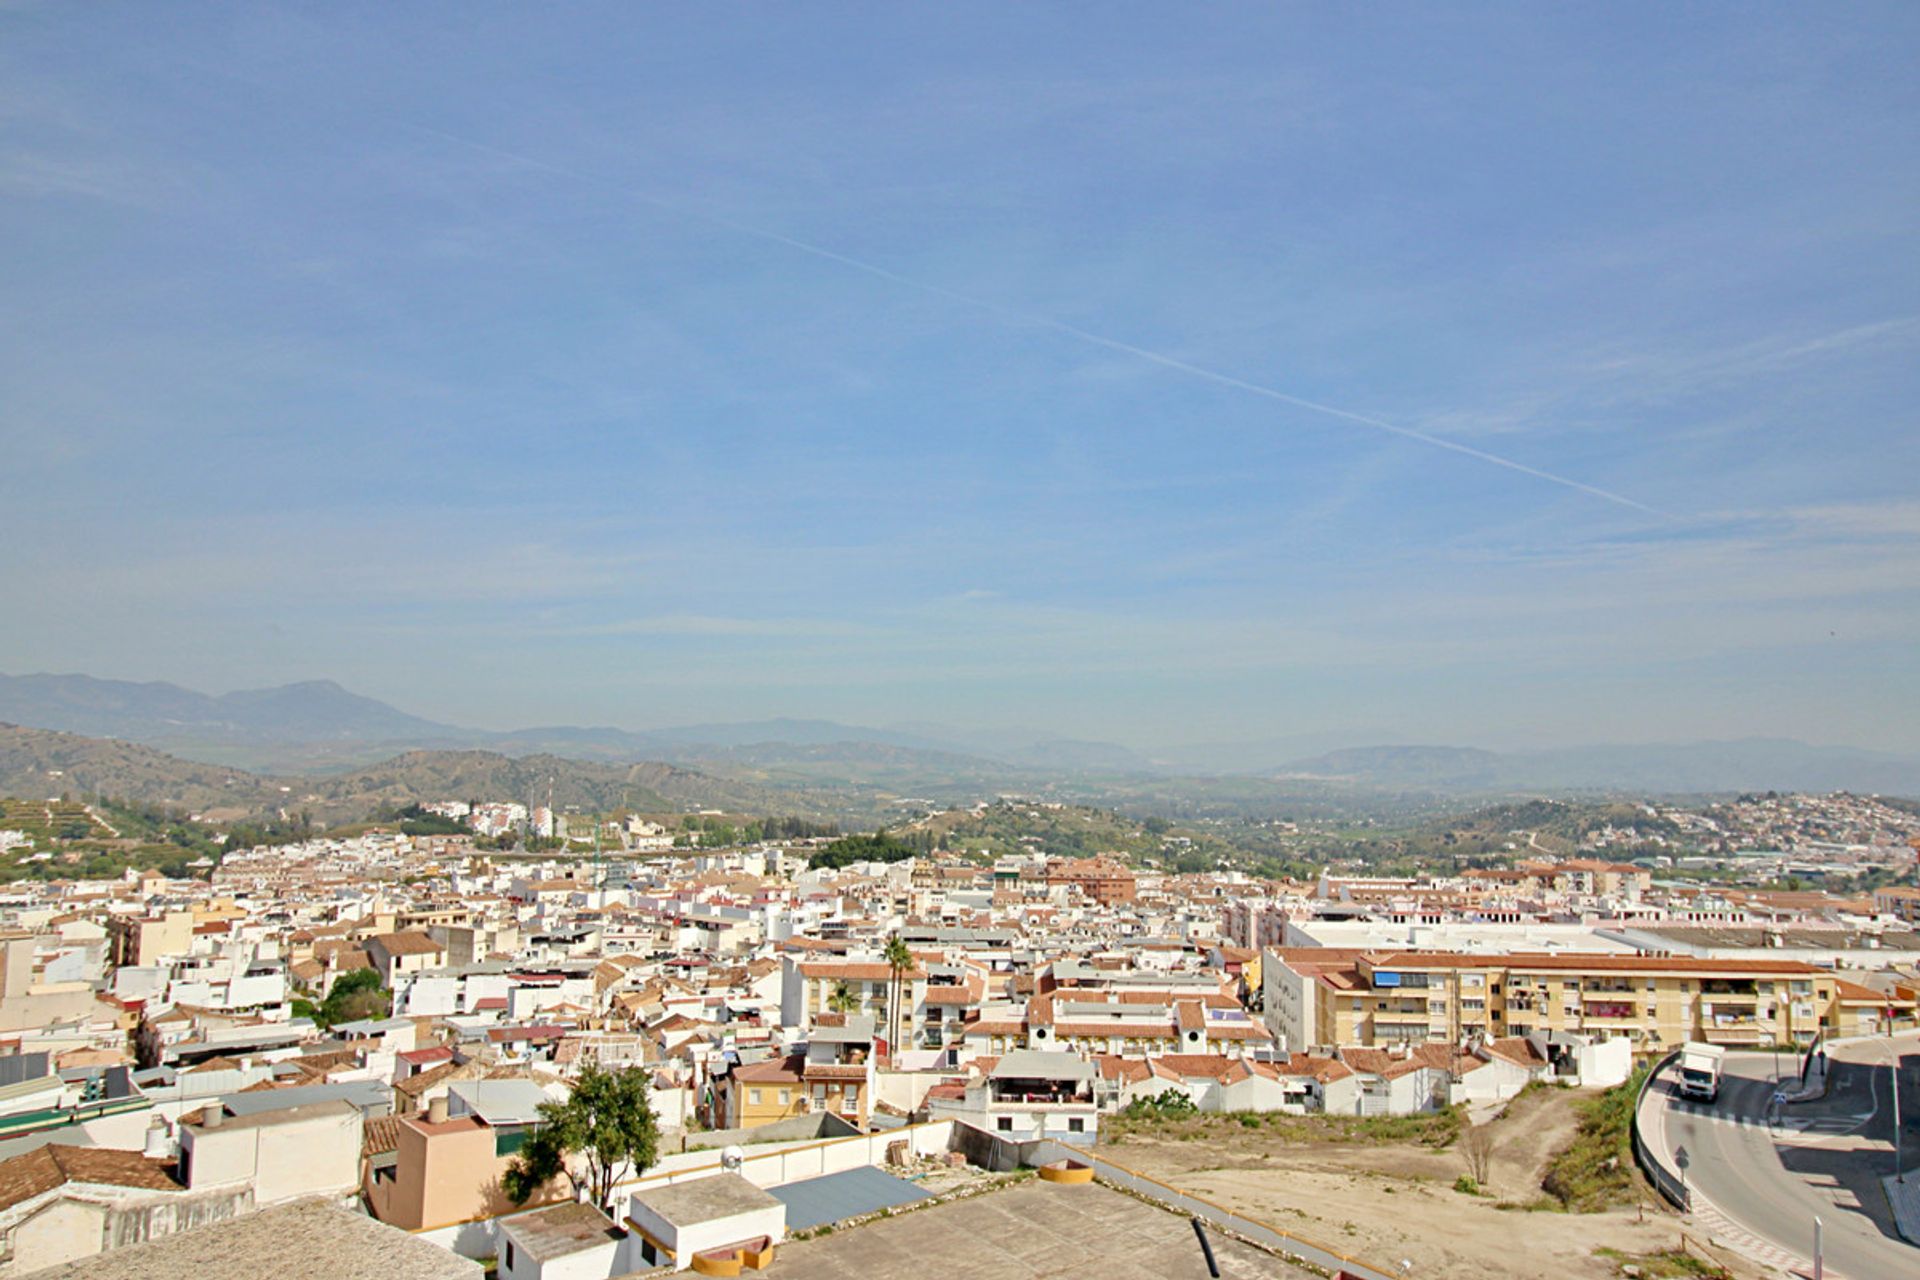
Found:
[[[1014,320],[1018,324],[1029,324],[1029,326],[1035,326],[1035,328],[1050,328],[1056,334],[1066,334],[1066,336],[1077,338],[1077,340],[1081,340],[1085,344],[1091,344],[1091,345],[1096,345],[1096,347],[1106,347],[1108,351],[1119,351],[1121,355],[1131,355],[1135,359],[1148,361],[1152,365],[1160,365],[1164,368],[1173,368],[1177,372],[1188,374],[1192,378],[1200,378],[1204,382],[1212,382],[1215,386],[1225,386],[1225,388],[1233,388],[1236,391],[1246,391],[1248,395],[1261,395],[1265,399],[1273,399],[1273,401],[1279,401],[1283,405],[1292,405],[1294,409],[1308,409],[1311,413],[1319,413],[1319,415],[1325,415],[1329,418],[1340,418],[1342,422],[1354,422],[1357,426],[1367,426],[1367,428],[1373,428],[1377,432],[1386,432],[1388,436],[1400,436],[1402,439],[1413,439],[1417,443],[1430,445],[1434,449],[1446,449],[1448,453],[1459,453],[1461,457],[1478,459],[1480,462],[1490,462],[1492,466],[1503,466],[1503,468],[1507,468],[1511,472],[1519,472],[1523,476],[1532,476],[1534,480],[1546,480],[1548,484],[1557,484],[1557,486],[1561,486],[1565,489],[1574,489],[1576,493],[1586,493],[1590,497],[1597,497],[1601,501],[1615,503],[1617,507],[1630,507],[1632,510],[1644,510],[1644,512],[1647,512],[1651,516],[1667,516],[1668,514],[1668,512],[1663,512],[1663,510],[1659,510],[1655,507],[1647,507],[1642,501],[1626,497],[1624,493],[1615,493],[1611,489],[1601,489],[1597,486],[1584,484],[1580,480],[1572,480],[1571,476],[1559,476],[1555,472],[1542,470],[1538,466],[1528,466],[1526,462],[1515,462],[1509,457],[1501,457],[1498,453],[1488,453],[1486,449],[1475,449],[1473,445],[1463,445],[1457,439],[1446,439],[1444,436],[1430,436],[1430,434],[1415,430],[1411,426],[1400,426],[1396,422],[1386,422],[1382,418],[1373,418],[1373,416],[1363,415],[1363,413],[1354,413],[1352,409],[1340,409],[1336,405],[1323,405],[1317,399],[1306,399],[1302,395],[1288,395],[1286,391],[1281,391],[1277,388],[1269,388],[1269,386],[1263,386],[1260,382],[1248,382],[1246,378],[1235,378],[1233,374],[1223,374],[1217,368],[1208,368],[1204,365],[1192,365],[1192,363],[1183,361],[1183,359],[1179,359],[1175,355],[1165,355],[1164,351],[1152,351],[1148,347],[1137,347],[1131,342],[1121,342],[1119,338],[1108,338],[1106,334],[1096,334],[1092,330],[1079,328],[1077,324],[1068,324],[1066,320],[1056,320],[1052,317],[1037,315],[1033,311],[1021,311],[1018,307],[1008,307],[1004,303],[989,301],[985,297],[975,297],[973,294],[960,294],[956,290],[948,290],[948,288],[943,288],[939,284],[929,284],[925,280],[916,280],[914,276],[902,276],[897,271],[887,271],[885,267],[876,267],[874,263],[862,261],[858,257],[847,257],[845,253],[837,253],[837,251],[828,249],[824,246],[810,244],[806,240],[795,240],[793,236],[783,236],[778,230],[766,230],[764,226],[751,226],[747,223],[735,223],[733,219],[722,217],[718,213],[705,213],[705,211],[687,209],[684,205],[670,203],[670,201],[660,200],[657,196],[647,196],[645,192],[637,192],[637,190],[634,190],[630,186],[620,186],[616,182],[609,182],[607,178],[601,178],[601,177],[595,177],[595,175],[589,175],[589,173],[582,173],[578,169],[568,169],[564,165],[555,165],[555,163],[545,161],[545,159],[536,159],[534,155],[522,155],[518,152],[509,152],[509,150],[503,150],[503,148],[497,148],[497,146],[488,146],[486,142],[474,142],[472,138],[461,138],[457,134],[449,134],[449,132],[444,132],[440,129],[428,129],[426,125],[413,125],[413,129],[419,130],[419,132],[424,132],[424,134],[428,134],[432,138],[440,138],[442,142],[453,142],[455,146],[468,148],[472,152],[482,152],[486,155],[495,155],[499,159],[507,159],[507,161],[513,161],[516,165],[524,165],[524,167],[530,167],[530,169],[543,169],[547,173],[559,175],[563,178],[570,178],[574,182],[584,182],[588,186],[601,186],[601,188],[612,190],[612,192],[616,192],[620,196],[626,196],[628,200],[637,200],[637,201],[653,205],[657,209],[664,209],[666,213],[672,213],[676,217],[695,219],[695,221],[701,221],[701,223],[708,223],[712,226],[722,226],[722,228],[732,230],[732,232],[741,234],[741,236],[751,236],[755,240],[764,240],[768,244],[785,246],[785,248],[789,248],[789,249],[793,249],[797,253],[806,253],[810,257],[818,257],[818,259],[824,259],[824,261],[829,261],[829,263],[839,263],[841,267],[847,267],[849,271],[858,271],[862,274],[874,276],[877,280],[887,280],[891,284],[899,284],[899,286],[914,290],[918,294],[929,294],[933,297],[945,297],[945,299],[956,301],[956,303],[960,303],[964,307],[973,307],[975,311],[989,311],[993,315],[998,315],[998,317],[1002,317],[1006,320]]]

